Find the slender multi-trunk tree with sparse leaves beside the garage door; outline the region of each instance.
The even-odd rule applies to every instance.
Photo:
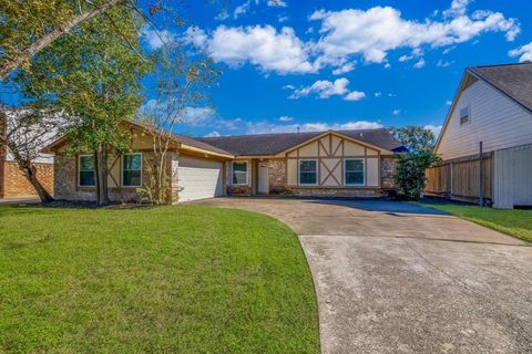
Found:
[[[150,179],[140,192],[150,202],[168,201],[172,176],[166,168],[167,153],[177,124],[184,123],[191,108],[204,105],[206,90],[217,77],[213,61],[206,55],[191,55],[184,43],[167,43],[155,74],[158,94],[139,113],[139,123],[152,136],[154,159],[149,164]]]

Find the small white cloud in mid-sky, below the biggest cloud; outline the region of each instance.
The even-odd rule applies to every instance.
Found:
[[[297,100],[300,97],[306,97],[311,94],[318,96],[318,98],[329,98],[330,96],[344,96],[345,101],[359,101],[366,97],[364,92],[359,91],[349,91],[347,86],[349,85],[349,80],[346,77],[340,77],[335,81],[328,80],[318,80],[310,86],[303,86],[294,91],[294,93],[288,96],[290,100]]]

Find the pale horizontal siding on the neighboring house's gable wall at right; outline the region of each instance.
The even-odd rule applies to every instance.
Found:
[[[471,106],[471,122],[460,125],[460,110]],[[442,133],[437,153],[452,159],[479,153],[532,143],[532,114],[522,106],[479,80],[458,98],[458,103]]]

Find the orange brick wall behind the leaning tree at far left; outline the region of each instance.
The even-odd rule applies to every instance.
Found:
[[[3,197],[37,196],[33,186],[25,179],[16,163],[3,164]],[[53,165],[35,164],[37,178],[53,195]]]

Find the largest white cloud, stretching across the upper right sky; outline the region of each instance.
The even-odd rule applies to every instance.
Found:
[[[375,7],[368,10],[319,10],[310,20],[321,21],[321,39],[314,50],[328,59],[360,54],[366,62],[386,63],[389,51],[400,48],[419,49],[447,46],[467,42],[484,32],[503,32],[512,41],[520,32],[515,19],[507,19],[500,12],[475,12],[466,15],[467,1],[453,1],[451,19],[423,22],[407,20],[391,7]],[[450,13],[450,12],[449,12]]]

